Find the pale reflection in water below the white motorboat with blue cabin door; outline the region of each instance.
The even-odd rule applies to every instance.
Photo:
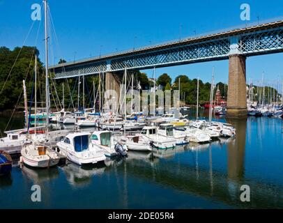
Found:
[[[86,187],[91,185],[93,176],[102,176],[105,167],[105,164],[79,166],[70,162],[61,169],[72,187]]]

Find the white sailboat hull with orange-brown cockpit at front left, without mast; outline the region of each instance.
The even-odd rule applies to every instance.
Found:
[[[22,146],[21,161],[29,167],[53,167],[59,163],[59,155],[42,141],[29,141]]]

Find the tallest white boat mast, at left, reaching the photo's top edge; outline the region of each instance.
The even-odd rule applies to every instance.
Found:
[[[47,22],[47,0],[44,0],[45,8],[45,105],[46,105],[46,133],[49,125],[49,81],[48,81],[48,22]]]

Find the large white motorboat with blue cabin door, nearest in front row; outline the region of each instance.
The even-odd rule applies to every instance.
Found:
[[[89,132],[71,133],[56,145],[60,153],[76,164],[95,164],[105,160],[106,157],[102,148],[91,143],[90,136]]]

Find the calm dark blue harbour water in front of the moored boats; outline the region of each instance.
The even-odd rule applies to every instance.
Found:
[[[21,128],[22,119],[14,127]],[[1,132],[7,122],[0,117]],[[129,152],[100,166],[29,169],[15,160],[11,176],[0,178],[0,207],[283,208],[282,119],[227,122],[235,126],[236,139]],[[34,184],[42,190],[38,203],[31,201]],[[250,202],[240,201],[241,185],[250,186]]]

